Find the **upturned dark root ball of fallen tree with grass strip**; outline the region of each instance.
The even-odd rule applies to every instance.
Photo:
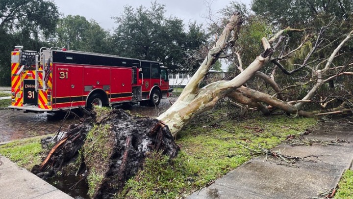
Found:
[[[89,181],[91,198],[111,198],[143,169],[152,151],[170,157],[179,151],[162,121],[131,116],[121,109],[96,109],[80,124],[71,125],[32,172],[40,177],[59,171],[66,175],[81,173]]]

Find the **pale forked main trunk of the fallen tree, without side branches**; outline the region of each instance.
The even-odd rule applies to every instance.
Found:
[[[185,86],[176,102],[157,119],[164,121],[173,136],[181,130],[196,115],[212,109],[219,99],[234,91],[237,87],[245,84],[264,64],[266,64],[273,53],[271,45],[266,38],[262,39],[262,45],[265,51],[249,65],[240,75],[230,81],[219,81],[199,88],[204,75],[209,71],[217,57],[227,48],[227,41],[231,31],[239,26],[242,19],[239,13],[235,13],[223,30],[216,45],[208,52],[202,65]],[[233,34],[236,36],[236,34]]]

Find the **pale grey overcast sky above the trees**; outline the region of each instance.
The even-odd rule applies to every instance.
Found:
[[[211,4],[212,12],[226,7],[231,0],[157,0],[165,4],[166,16],[176,16],[188,24],[196,20],[199,24],[205,21],[208,14],[208,4]],[[237,0],[250,4],[251,0]],[[94,19],[102,28],[115,27],[113,16],[119,16],[123,12],[124,5],[128,4],[136,8],[139,5],[150,7],[150,0],[54,0],[59,12],[66,15],[81,15],[87,20]]]

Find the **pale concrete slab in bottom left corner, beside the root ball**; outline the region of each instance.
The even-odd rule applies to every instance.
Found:
[[[0,199],[73,199],[0,156]]]

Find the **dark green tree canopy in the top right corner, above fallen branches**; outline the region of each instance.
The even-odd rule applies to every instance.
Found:
[[[353,11],[352,0],[253,0],[251,6],[277,28],[320,28],[319,21],[347,20]]]

